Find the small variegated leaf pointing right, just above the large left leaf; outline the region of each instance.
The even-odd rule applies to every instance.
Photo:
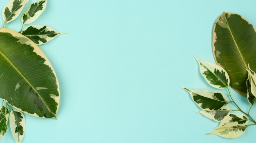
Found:
[[[56,38],[58,35],[65,34],[60,33],[50,28],[49,26],[43,25],[32,25],[25,28],[22,32],[22,35],[25,35],[29,39],[31,39],[37,45],[45,44],[48,41]]]

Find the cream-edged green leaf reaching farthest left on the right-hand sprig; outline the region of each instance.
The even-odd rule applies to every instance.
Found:
[[[222,107],[229,103],[225,95],[220,92],[210,92],[208,90],[191,90],[183,87],[182,89],[189,92],[195,104],[206,111],[220,110]]]

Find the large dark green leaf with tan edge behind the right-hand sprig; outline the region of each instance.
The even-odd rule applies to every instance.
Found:
[[[256,31],[245,18],[236,13],[222,13],[213,28],[213,55],[230,78],[230,87],[247,96],[245,69],[256,70]]]

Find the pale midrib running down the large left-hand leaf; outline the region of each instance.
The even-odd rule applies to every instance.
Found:
[[[17,69],[17,67],[15,65],[13,65],[13,63],[9,60],[9,58],[7,58],[7,56],[5,56],[5,54],[0,51],[0,54],[2,56],[4,56],[5,59],[7,59],[7,61],[11,64],[11,66],[16,69],[16,71],[18,72],[18,74],[20,74],[20,76],[22,76],[23,79],[25,79],[25,81],[30,85],[30,87],[32,87],[32,89],[37,93],[38,97],[41,99],[41,101],[43,102],[43,104],[46,105],[48,111],[50,111],[50,113],[52,113],[52,115],[55,117],[54,113],[50,110],[49,106],[45,103],[45,100],[43,100],[43,98],[40,96],[40,94],[38,93],[38,91],[36,90],[36,88],[34,86],[31,85],[31,83],[27,80],[27,78],[25,78],[25,76],[23,76],[23,74]]]

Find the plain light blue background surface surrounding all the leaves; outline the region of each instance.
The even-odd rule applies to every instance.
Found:
[[[48,0],[33,24],[68,33],[40,46],[57,73],[61,104],[56,121],[25,115],[23,143],[255,141],[254,126],[237,139],[205,135],[218,124],[193,113],[199,108],[180,89],[214,90],[193,54],[214,62],[218,16],[238,13],[256,26],[255,6],[254,0]],[[20,19],[7,27],[19,31]],[[2,142],[14,143],[10,131]]]

